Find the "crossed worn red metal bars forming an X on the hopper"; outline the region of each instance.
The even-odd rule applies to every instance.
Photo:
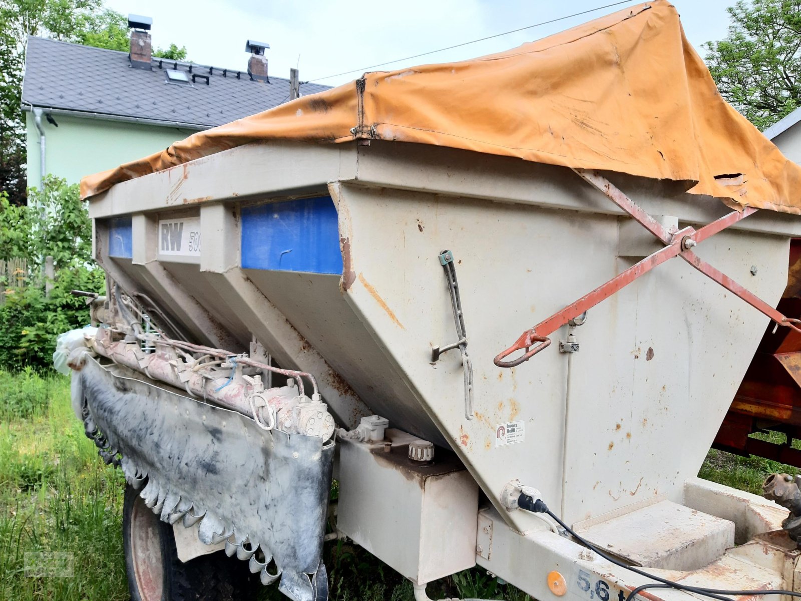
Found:
[[[783,316],[782,313],[779,313],[779,311],[771,307],[771,305],[768,305],[764,300],[755,296],[755,294],[749,292],[746,288],[743,288],[743,286],[735,282],[735,280],[732,280],[731,277],[718,271],[718,269],[706,263],[706,261],[702,260],[690,250],[699,242],[702,242],[702,240],[706,240],[710,236],[714,236],[714,234],[728,228],[731,224],[735,224],[739,220],[752,215],[756,212],[755,208],[748,207],[745,208],[743,212],[734,211],[728,213],[720,219],[706,224],[698,231],[694,230],[694,228],[683,228],[678,232],[669,232],[662,224],[654,220],[643,211],[642,208],[635,204],[633,200],[623,194],[614,184],[598,174],[598,172],[586,171],[583,169],[574,169],[574,171],[576,171],[582,179],[585,179],[595,188],[601,190],[614,204],[617,204],[623,211],[634,217],[639,224],[642,224],[644,228],[658,240],[661,240],[662,243],[666,244],[666,246],[654,252],[654,254],[647,256],[637,264],[632,265],[617,276],[614,276],[611,280],[606,282],[606,284],[602,284],[592,292],[588,292],[571,305],[568,305],[565,309],[562,309],[562,311],[554,313],[545,321],[541,321],[533,328],[526,330],[517,338],[517,341],[515,341],[512,346],[495,357],[495,365],[498,367],[514,367],[520,365],[523,361],[528,361],[531,357],[550,345],[550,334],[554,333],[563,325],[566,325],[571,319],[580,316],[587,309],[591,309],[602,300],[609,298],[615,292],[618,292],[618,290],[636,280],[639,276],[650,272],[651,269],[664,263],[668,259],[672,259],[674,256],[681,256],[682,259],[698,269],[699,272],[702,272],[705,276],[718,282],[723,288],[727,288],[727,290],[745,300],[749,305],[758,309],[779,325],[786,325],[787,327],[801,332],[801,329],[795,325],[801,323],[801,321]],[[525,353],[513,360],[504,361],[505,357],[509,357],[509,355],[519,350],[525,350]]]

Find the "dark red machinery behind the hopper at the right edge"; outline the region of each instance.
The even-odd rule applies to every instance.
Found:
[[[787,288],[777,309],[801,317],[801,238],[791,240]],[[766,431],[787,434],[787,442],[749,437]],[[801,467],[794,439],[801,440],[801,333],[771,321],[712,446]]]

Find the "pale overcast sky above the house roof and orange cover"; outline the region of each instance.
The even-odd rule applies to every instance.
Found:
[[[186,46],[195,63],[245,70],[245,41],[268,42],[271,75],[288,77],[300,66],[300,79],[324,78],[377,63],[421,54],[461,42],[592,10],[614,0],[107,0],[123,14],[153,18],[154,46]],[[726,7],[735,0],[674,0],[690,42],[723,38]],[[626,2],[515,34],[392,63],[398,69],[445,63],[506,50],[603,14],[633,6]],[[300,62],[299,62],[300,58]],[[322,79],[337,85],[360,72]],[[302,88],[301,88],[302,91]]]

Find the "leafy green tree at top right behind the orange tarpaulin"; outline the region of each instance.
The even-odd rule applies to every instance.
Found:
[[[801,0],[739,0],[728,34],[706,42],[723,98],[765,129],[801,105]]]

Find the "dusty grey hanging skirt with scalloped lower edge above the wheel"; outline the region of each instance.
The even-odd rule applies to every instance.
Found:
[[[106,462],[165,522],[199,523],[199,538],[225,540],[263,583],[280,577],[296,601],[323,601],[321,561],[334,442],[263,430],[116,364],[87,357],[73,375],[73,403]]]

